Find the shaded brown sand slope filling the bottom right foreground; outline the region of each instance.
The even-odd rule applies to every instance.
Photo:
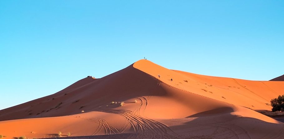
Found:
[[[228,108],[219,110],[231,111]],[[204,113],[206,114],[210,111]],[[163,121],[166,122],[165,124],[175,125],[170,128],[173,131],[180,131],[179,134],[185,138],[252,139],[252,137],[279,138],[280,134],[283,135],[283,124],[266,122],[252,117],[232,115],[231,113],[204,117],[204,113],[201,112],[195,115],[203,115],[203,117],[167,119]]]

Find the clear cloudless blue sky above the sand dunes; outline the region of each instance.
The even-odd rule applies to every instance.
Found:
[[[248,80],[284,74],[283,1],[0,1],[0,109],[146,57]]]

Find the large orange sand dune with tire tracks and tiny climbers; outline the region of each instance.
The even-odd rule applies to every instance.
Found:
[[[283,86],[169,70],[140,60],[1,110],[0,135],[50,138],[61,131],[72,138],[282,138],[284,124],[259,112],[272,114],[270,100],[282,95]]]

